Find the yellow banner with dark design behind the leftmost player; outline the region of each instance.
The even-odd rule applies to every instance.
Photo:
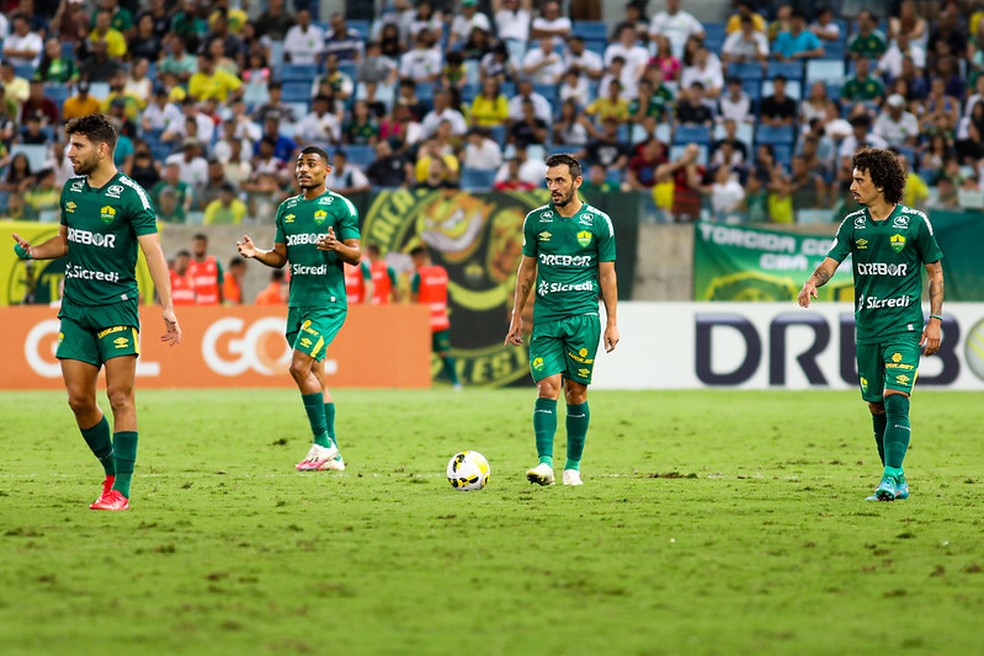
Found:
[[[14,253],[12,235],[19,234],[32,244],[58,236],[57,223],[0,221],[0,306],[49,305],[61,299],[65,280],[65,258],[21,260]],[[154,283],[143,252],[138,250],[137,285],[142,303],[154,302]]]

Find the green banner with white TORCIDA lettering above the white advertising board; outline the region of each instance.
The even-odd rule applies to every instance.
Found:
[[[699,222],[694,227],[694,300],[791,301],[830,248],[831,237]],[[820,300],[853,301],[848,263]]]

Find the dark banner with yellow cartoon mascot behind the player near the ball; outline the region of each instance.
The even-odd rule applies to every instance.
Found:
[[[598,206],[615,225],[619,298],[631,296],[638,239],[637,203],[615,195]],[[467,193],[456,190],[386,190],[354,197],[363,209],[362,242],[377,244],[391,262],[426,245],[448,271],[451,353],[465,385],[500,386],[529,381],[527,350],[503,346],[512,311],[516,270],[527,212],[549,202],[546,189]],[[594,202],[592,202],[594,204]],[[405,255],[403,256],[405,257]],[[532,301],[527,309],[532,313]],[[526,326],[532,324],[527,317]],[[435,378],[441,363],[432,362]]]

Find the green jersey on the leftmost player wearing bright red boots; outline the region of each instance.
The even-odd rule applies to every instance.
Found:
[[[60,205],[68,228],[65,299],[77,305],[136,300],[137,237],[157,232],[144,188],[122,173],[98,189],[85,177],[71,178]]]

